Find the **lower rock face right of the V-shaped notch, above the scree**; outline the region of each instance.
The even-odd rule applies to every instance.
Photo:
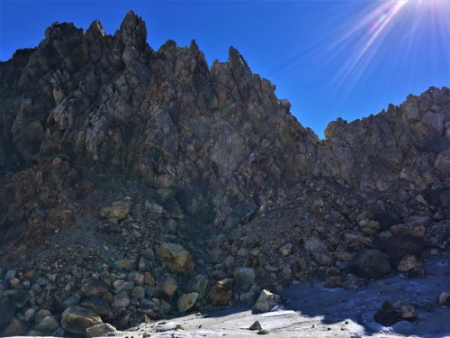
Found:
[[[417,190],[450,173],[450,90],[430,87],[400,106],[362,120],[329,123],[314,172],[367,190],[398,181]]]

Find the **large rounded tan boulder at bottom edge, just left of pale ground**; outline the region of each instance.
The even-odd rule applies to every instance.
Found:
[[[61,326],[69,333],[85,335],[88,327],[97,324],[103,324],[102,318],[82,306],[68,306],[61,315]]]

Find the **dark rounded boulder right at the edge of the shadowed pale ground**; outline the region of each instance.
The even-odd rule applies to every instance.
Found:
[[[391,263],[383,252],[365,249],[356,253],[350,262],[349,271],[360,278],[380,279],[391,271]]]

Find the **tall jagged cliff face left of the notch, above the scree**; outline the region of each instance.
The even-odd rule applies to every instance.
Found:
[[[87,175],[174,189],[185,212],[216,224],[306,172],[317,137],[237,50],[209,69],[194,41],[154,51],[146,39],[132,13],[114,36],[55,23],[3,63],[2,168],[59,156]]]

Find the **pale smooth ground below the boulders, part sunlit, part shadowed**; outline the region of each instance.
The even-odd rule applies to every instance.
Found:
[[[234,306],[211,314],[140,324],[111,336],[448,337],[449,307],[439,304],[439,290],[450,284],[450,257],[428,258],[425,270],[425,279],[411,280],[397,275],[371,282],[361,290],[299,283],[282,291],[284,304],[268,313],[257,314],[247,306]],[[377,323],[374,315],[384,301],[407,307],[410,318],[402,318],[390,327]]]

